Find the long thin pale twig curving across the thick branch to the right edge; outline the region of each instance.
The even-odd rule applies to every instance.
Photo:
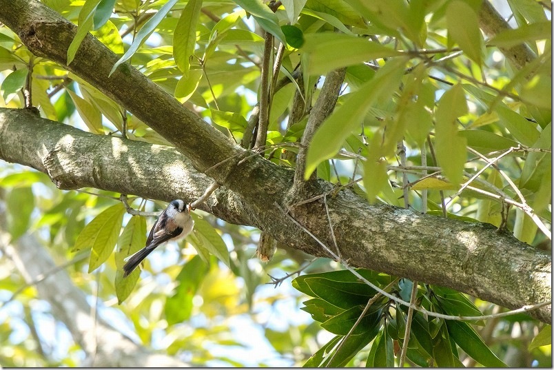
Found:
[[[405,300],[402,300],[401,298],[398,298],[396,296],[393,296],[392,294],[387,293],[386,291],[383,291],[382,289],[380,289],[380,287],[377,287],[375,284],[373,284],[373,282],[367,280],[367,278],[363,277],[358,271],[353,269],[345,260],[342,260],[342,259],[338,258],[338,256],[336,254],[334,254],[334,252],[331,251],[331,249],[329,249],[329,247],[327,247],[327,245],[322,243],[322,241],[319,240],[317,236],[312,234],[308,229],[306,229],[306,227],[304,227],[297,220],[295,220],[288,212],[285,212],[285,209],[283,209],[278,203],[275,202],[274,205],[281,212],[283,212],[283,214],[287,218],[289,218],[294,224],[296,224],[298,227],[300,227],[300,229],[302,229],[306,234],[311,236],[311,238],[316,240],[316,243],[321,245],[323,247],[323,249],[325,249],[325,251],[327,251],[327,253],[329,253],[329,255],[331,255],[332,258],[334,258],[335,260],[338,260],[340,263],[342,263],[342,265],[345,266],[345,268],[348,271],[350,271],[354,276],[356,276],[358,279],[362,280],[367,285],[369,285],[370,287],[372,287],[376,291],[379,291],[383,296],[386,296],[387,298],[390,298],[394,302],[398,302],[398,303],[400,303],[400,305],[404,305],[406,307],[413,307],[413,309],[415,309],[416,311],[420,311],[423,314],[426,314],[427,316],[433,316],[435,318],[444,318],[444,319],[447,319],[447,320],[458,320],[458,321],[486,320],[486,319],[494,318],[494,317],[503,317],[503,316],[511,316],[511,315],[515,315],[515,314],[520,314],[522,312],[531,311],[533,309],[539,309],[540,307],[544,307],[544,306],[552,304],[552,301],[548,300],[546,302],[540,302],[540,303],[537,303],[535,305],[525,305],[524,307],[521,307],[519,309],[514,309],[514,310],[508,311],[508,312],[503,312],[502,314],[484,315],[484,316],[451,316],[451,315],[444,315],[444,314],[439,314],[438,312],[427,311],[427,309],[424,309],[423,307],[417,307],[415,305],[410,305],[410,302],[406,302]]]

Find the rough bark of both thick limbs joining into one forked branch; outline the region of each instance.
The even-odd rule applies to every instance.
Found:
[[[96,136],[25,112],[1,110],[0,158],[49,174],[61,189],[98,187],[166,201],[176,196],[194,201],[213,178],[222,186],[205,210],[258,227],[290,247],[326,256],[280,210],[290,209],[296,220],[332,245],[321,198],[291,207],[294,170],[234,145],[130,65],[108,77],[118,56],[90,34],[67,66],[76,26],[43,4],[0,0],[0,21],[34,54],[88,81],[176,148]],[[330,189],[330,183],[317,181],[305,194]],[[509,308],[551,300],[551,256],[498,234],[491,225],[369,205],[350,189],[329,196],[328,202],[342,258],[354,266],[451,287]],[[551,306],[530,314],[551,322]]]

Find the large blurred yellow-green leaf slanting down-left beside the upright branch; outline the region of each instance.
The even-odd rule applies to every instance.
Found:
[[[362,85],[360,90],[349,94],[345,103],[322,123],[309,145],[305,179],[320,162],[333,158],[351,132],[360,127],[362,118],[377,99],[387,99],[398,89],[405,63],[403,58],[388,61],[373,79]]]

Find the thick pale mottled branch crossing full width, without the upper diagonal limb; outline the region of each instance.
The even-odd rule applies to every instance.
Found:
[[[0,159],[39,169],[62,188],[98,187],[165,201],[175,196],[194,200],[211,184],[169,147],[88,134],[25,110],[0,109]],[[201,209],[258,227],[313,256],[327,256],[282,212],[273,213],[271,199],[289,189],[292,176],[290,171],[276,177],[253,173],[250,187],[267,186],[264,202],[219,188]],[[551,256],[495,232],[492,225],[369,205],[349,189],[327,203],[342,258],[353,266],[451,287],[511,309],[551,300]],[[292,215],[332,245],[321,199],[294,207]],[[551,322],[550,306],[530,314]]]

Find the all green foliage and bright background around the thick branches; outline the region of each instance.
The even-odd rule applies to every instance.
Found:
[[[238,143],[269,55],[276,72],[267,157],[283,166],[295,165],[294,143],[322,76],[346,68],[336,109],[309,146],[306,176],[338,185],[356,179],[352,186],[370,201],[402,207],[403,197],[420,212],[491,223],[551,250],[550,4],[500,2],[515,29],[489,39],[480,31],[481,1],[288,0],[271,3],[275,11],[242,0],[42,2],[79,25],[68,63],[91,32],[121,55],[112,72],[132,63]],[[274,36],[269,52],[264,32]],[[499,51],[521,43],[536,56],[522,68]],[[0,70],[2,107],[23,107],[30,88],[48,119],[169,145],[87,81],[33,56],[3,25]],[[261,263],[258,230],[197,212],[185,242],[159,248],[123,280],[123,258],[143,246],[153,218],[126,214],[121,194],[61,192],[19,165],[1,163],[0,176],[11,240],[38,236],[98,314],[146,347],[197,365],[398,365],[406,307],[379,298],[347,335],[376,291],[334,261],[320,258],[303,271],[318,274],[274,290],[264,285],[268,274],[298,271],[309,256],[279,248]],[[165,207],[132,196],[130,203],[145,212]],[[79,366],[83,351],[48,302],[9,260],[0,263],[0,364]],[[389,292],[410,300],[411,281],[359,272],[381,288],[394,282]],[[424,284],[418,304],[455,316],[502,311]],[[407,363],[550,366],[549,333],[525,314],[461,322],[416,313]]]

